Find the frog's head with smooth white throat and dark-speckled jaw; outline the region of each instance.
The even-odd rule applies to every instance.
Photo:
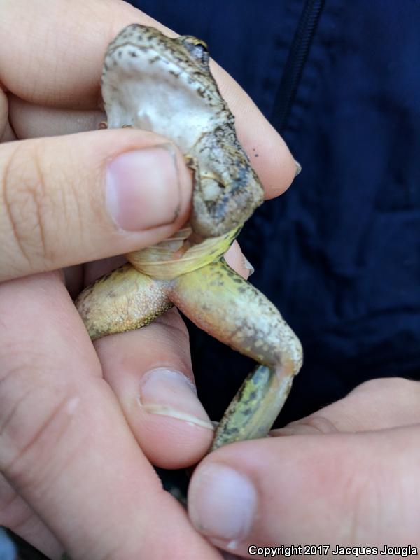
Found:
[[[152,130],[183,153],[230,114],[211,76],[204,41],[169,38],[137,24],[125,27],[109,45],[102,96],[110,128]]]

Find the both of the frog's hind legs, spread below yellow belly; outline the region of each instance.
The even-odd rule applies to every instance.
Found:
[[[147,325],[175,304],[260,364],[225,412],[211,449],[265,436],[302,364],[300,342],[279,311],[223,258],[174,279],[153,279],[127,264],[86,288],[76,304],[92,339]]]

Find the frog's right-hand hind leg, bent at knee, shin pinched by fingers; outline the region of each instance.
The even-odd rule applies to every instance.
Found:
[[[261,364],[225,412],[212,449],[265,436],[302,365],[302,346],[293,330],[224,259],[179,276],[170,298],[197,326]]]

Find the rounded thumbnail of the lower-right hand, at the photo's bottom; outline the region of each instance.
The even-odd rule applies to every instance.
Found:
[[[216,463],[195,472],[188,491],[188,512],[200,532],[223,540],[242,540],[256,510],[257,492],[248,477]]]

